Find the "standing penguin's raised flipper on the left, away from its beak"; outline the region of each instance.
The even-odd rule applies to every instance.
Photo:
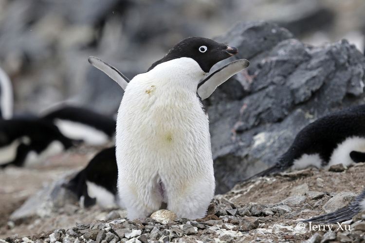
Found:
[[[124,89],[126,89],[129,79],[121,73],[118,69],[111,66],[109,63],[95,57],[89,56],[88,58],[89,63],[94,66],[95,68],[103,71],[107,74],[112,80],[117,82],[117,84]]]

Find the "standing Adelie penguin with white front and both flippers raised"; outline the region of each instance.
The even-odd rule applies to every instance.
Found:
[[[116,158],[119,198],[129,219],[144,219],[163,203],[181,218],[205,216],[215,179],[201,100],[249,65],[240,59],[207,74],[236,53],[226,44],[189,37],[130,81],[100,59],[89,58],[125,89],[117,117]]]

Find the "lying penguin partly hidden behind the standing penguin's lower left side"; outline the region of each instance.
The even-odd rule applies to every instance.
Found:
[[[117,197],[118,168],[115,146],[96,154],[89,164],[64,185],[85,207],[97,203],[103,208],[120,206]]]

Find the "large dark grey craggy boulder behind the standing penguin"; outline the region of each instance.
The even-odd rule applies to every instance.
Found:
[[[311,121],[364,103],[365,57],[347,40],[313,47],[267,22],[238,23],[217,40],[250,61],[205,102],[217,193],[273,165]]]

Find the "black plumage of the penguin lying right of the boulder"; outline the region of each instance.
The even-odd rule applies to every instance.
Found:
[[[284,171],[293,165],[295,159],[305,154],[318,154],[327,164],[334,149],[345,139],[355,136],[365,138],[364,124],[365,105],[350,107],[324,116],[304,127],[296,135],[287,152],[279,158],[279,161],[273,167],[252,177]],[[363,160],[364,158],[359,153],[352,153],[351,158],[353,157],[357,160]]]

